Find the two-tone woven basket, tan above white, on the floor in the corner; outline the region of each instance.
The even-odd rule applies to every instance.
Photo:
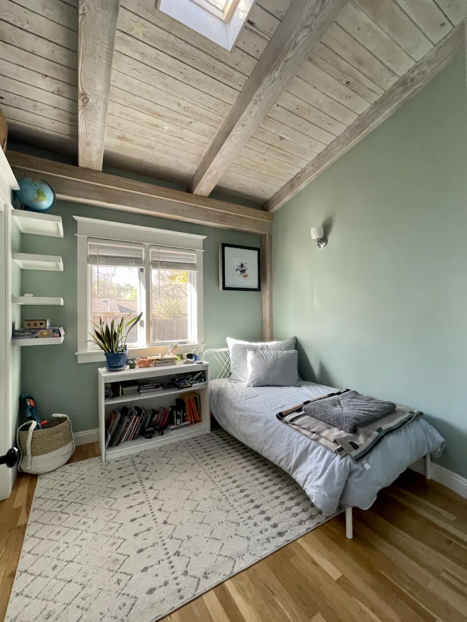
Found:
[[[64,465],[75,450],[75,442],[67,415],[52,415],[39,430],[36,425],[35,421],[20,425],[16,440],[21,452],[19,470],[38,475]]]

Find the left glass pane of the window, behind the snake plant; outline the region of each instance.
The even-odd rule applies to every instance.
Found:
[[[140,268],[121,266],[92,267],[92,321],[108,324],[126,315],[135,318],[141,309]],[[131,329],[126,343],[137,344],[139,327]]]

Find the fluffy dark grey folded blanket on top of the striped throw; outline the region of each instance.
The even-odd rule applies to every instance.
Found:
[[[349,434],[353,434],[357,427],[391,414],[395,408],[394,402],[361,395],[350,389],[337,395],[311,400],[303,406],[306,414]]]

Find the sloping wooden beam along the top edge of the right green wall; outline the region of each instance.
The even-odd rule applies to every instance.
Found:
[[[270,212],[278,210],[284,203],[300,192],[308,183],[336,162],[357,142],[377,128],[391,114],[395,113],[406,101],[417,95],[436,73],[450,62],[464,45],[463,23],[451,30],[422,60],[408,70],[379,100],[375,101],[359,116],[340,136],[321,151],[309,164],[287,182],[264,205]]]

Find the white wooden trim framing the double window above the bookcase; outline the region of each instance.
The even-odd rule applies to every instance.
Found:
[[[141,227],[138,225],[128,225],[126,223],[115,223],[96,218],[83,218],[73,216],[77,221],[77,277],[78,277],[78,308],[77,308],[77,359],[78,363],[95,363],[105,361],[105,354],[101,351],[87,350],[88,335],[88,238],[106,238],[125,240],[126,242],[137,242],[143,244],[154,244],[155,246],[172,246],[173,248],[189,248],[196,251],[196,343],[187,343],[179,346],[178,353],[191,352],[193,348],[204,350],[204,315],[203,315],[203,240],[206,236],[194,233],[182,233],[181,231],[166,231],[164,229],[153,229],[152,227]],[[146,253],[147,254],[147,253]],[[146,259],[148,262],[148,259]],[[145,266],[146,269],[148,266]],[[146,315],[151,315],[151,301],[146,304]],[[86,300],[86,304],[80,301]],[[148,315],[149,313],[149,315]],[[147,318],[146,318],[147,320]],[[147,330],[150,322],[146,321]],[[138,348],[128,351],[129,358],[136,356],[156,355],[166,352],[166,345],[154,345],[151,348]]]

